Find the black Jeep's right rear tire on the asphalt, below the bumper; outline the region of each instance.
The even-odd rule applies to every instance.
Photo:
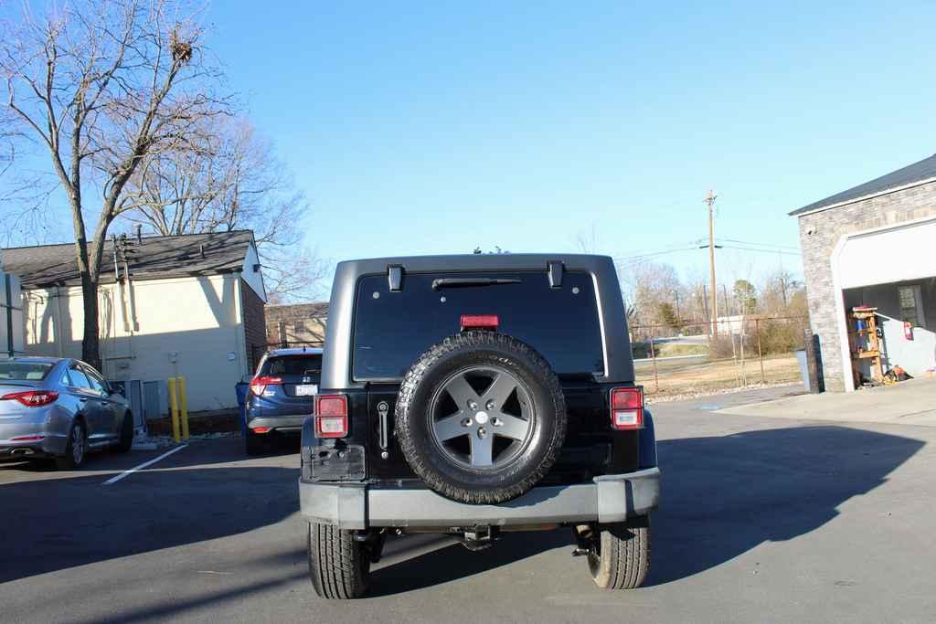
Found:
[[[633,589],[650,572],[650,518],[646,527],[622,524],[600,527],[589,545],[588,566],[595,585],[603,589]]]

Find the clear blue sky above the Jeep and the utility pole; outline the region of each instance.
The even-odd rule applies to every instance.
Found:
[[[933,3],[659,4],[226,1],[206,21],[332,260],[665,250],[707,235],[709,188],[717,236],[796,247],[789,210],[936,152]],[[781,256],[720,258],[756,278]]]

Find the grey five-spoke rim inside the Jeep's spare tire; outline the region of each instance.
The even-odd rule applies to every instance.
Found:
[[[430,404],[430,431],[456,465],[497,470],[530,442],[533,414],[530,392],[512,372],[473,367],[459,370],[438,386]]]

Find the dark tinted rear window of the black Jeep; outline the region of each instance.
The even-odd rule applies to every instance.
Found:
[[[518,280],[432,290],[440,278]],[[604,350],[592,276],[566,272],[550,288],[546,272],[433,273],[403,278],[390,292],[386,275],[358,281],[354,378],[397,380],[434,343],[461,329],[462,314],[497,314],[504,332],[546,357],[558,374],[604,373]]]

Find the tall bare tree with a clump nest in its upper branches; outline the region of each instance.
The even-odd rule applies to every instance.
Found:
[[[4,104],[47,150],[71,209],[81,352],[96,367],[101,257],[108,228],[132,208],[127,182],[147,156],[180,149],[189,129],[227,109],[196,17],[183,0],[75,0],[43,16],[24,7],[0,41]],[[86,220],[96,220],[91,239]]]

